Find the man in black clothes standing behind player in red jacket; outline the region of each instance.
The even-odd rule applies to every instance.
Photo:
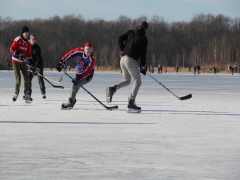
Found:
[[[30,86],[29,86],[29,93],[32,94],[32,78],[34,75],[37,75],[38,73],[43,76],[43,58],[41,53],[41,48],[37,44],[37,36],[35,34],[30,35],[30,43],[32,45],[32,58],[36,66],[36,73],[33,74],[32,72],[28,72],[28,76],[30,79]],[[46,87],[44,84],[44,80],[42,76],[38,76],[38,84],[40,87],[40,91],[42,94],[42,98],[46,98]]]

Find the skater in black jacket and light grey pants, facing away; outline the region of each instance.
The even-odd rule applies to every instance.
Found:
[[[120,66],[123,80],[106,89],[107,102],[110,103],[112,102],[112,96],[116,90],[128,86],[131,83],[131,78],[133,78],[134,84],[128,100],[128,109],[130,111],[141,111],[141,107],[135,104],[135,99],[142,83],[140,72],[143,75],[146,75],[147,72],[146,53],[148,39],[145,36],[147,28],[148,23],[143,21],[135,30],[129,30],[118,38],[118,45],[122,52]],[[140,71],[137,63],[139,58]]]

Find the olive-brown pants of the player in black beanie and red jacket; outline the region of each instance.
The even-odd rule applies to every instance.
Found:
[[[29,78],[28,78],[28,71],[27,71],[27,66],[26,64],[16,64],[12,63],[13,65],[13,70],[15,73],[15,92],[20,91],[20,85],[21,85],[21,74],[20,71],[22,72],[23,75],[23,80],[24,80],[24,92],[29,91]]]

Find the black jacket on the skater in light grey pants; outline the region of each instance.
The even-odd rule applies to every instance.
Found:
[[[122,56],[127,55],[135,59],[140,58],[140,65],[146,64],[148,39],[145,36],[145,29],[137,27],[129,30],[118,38],[118,46],[122,51]]]

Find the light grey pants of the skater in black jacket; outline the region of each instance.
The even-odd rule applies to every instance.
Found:
[[[138,90],[142,84],[138,63],[131,57],[123,56],[121,57],[120,66],[122,69],[123,80],[116,84],[117,85],[116,89],[118,90],[125,86],[128,86],[131,83],[132,77],[134,80],[134,84],[130,94],[130,99],[135,99]]]

